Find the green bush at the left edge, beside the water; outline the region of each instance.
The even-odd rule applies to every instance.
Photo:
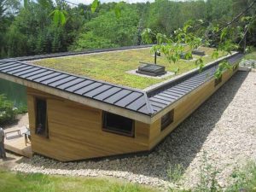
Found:
[[[0,95],[0,125],[11,123],[15,120],[18,108],[9,101],[5,95]]]

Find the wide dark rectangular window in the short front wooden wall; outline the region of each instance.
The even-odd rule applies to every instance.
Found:
[[[117,114],[104,112],[102,130],[134,137],[134,120]]]

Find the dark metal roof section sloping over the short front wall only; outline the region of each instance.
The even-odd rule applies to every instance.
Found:
[[[100,102],[107,102],[138,113],[153,113],[148,102],[148,96],[142,90],[108,84],[15,60],[0,60],[0,73],[44,84]]]

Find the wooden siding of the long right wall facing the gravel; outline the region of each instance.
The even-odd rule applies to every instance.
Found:
[[[173,103],[170,107],[166,108],[164,113],[168,113],[174,108],[174,121],[164,131],[160,131],[160,119],[157,119],[150,127],[149,133],[149,148],[152,149],[157,143],[160,143],[168,134],[170,134],[184,119],[189,117],[191,113],[199,108],[212,94],[218,90],[230,77],[236,73],[236,70],[227,70],[222,75],[222,82],[214,86],[215,79],[207,81],[196,90],[191,91],[187,96],[184,96],[179,101]],[[163,114],[164,114],[163,113]]]

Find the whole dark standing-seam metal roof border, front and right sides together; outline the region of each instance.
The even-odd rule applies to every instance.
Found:
[[[241,56],[241,54],[231,55],[228,61],[232,64],[240,59]],[[49,55],[39,57],[47,58]],[[28,60],[31,59],[31,57],[28,58]],[[216,62],[214,65],[206,67],[201,73],[198,71],[191,73],[185,78],[177,79],[170,84],[165,84],[155,90],[145,92],[60,72],[47,67],[35,66],[24,62],[24,58],[20,60],[22,61],[15,59],[0,60],[0,73],[44,84],[58,90],[67,91],[149,116],[159,113],[162,109],[170,106],[173,102],[177,102],[181,97],[195,90],[207,80],[212,79],[218,64]]]

